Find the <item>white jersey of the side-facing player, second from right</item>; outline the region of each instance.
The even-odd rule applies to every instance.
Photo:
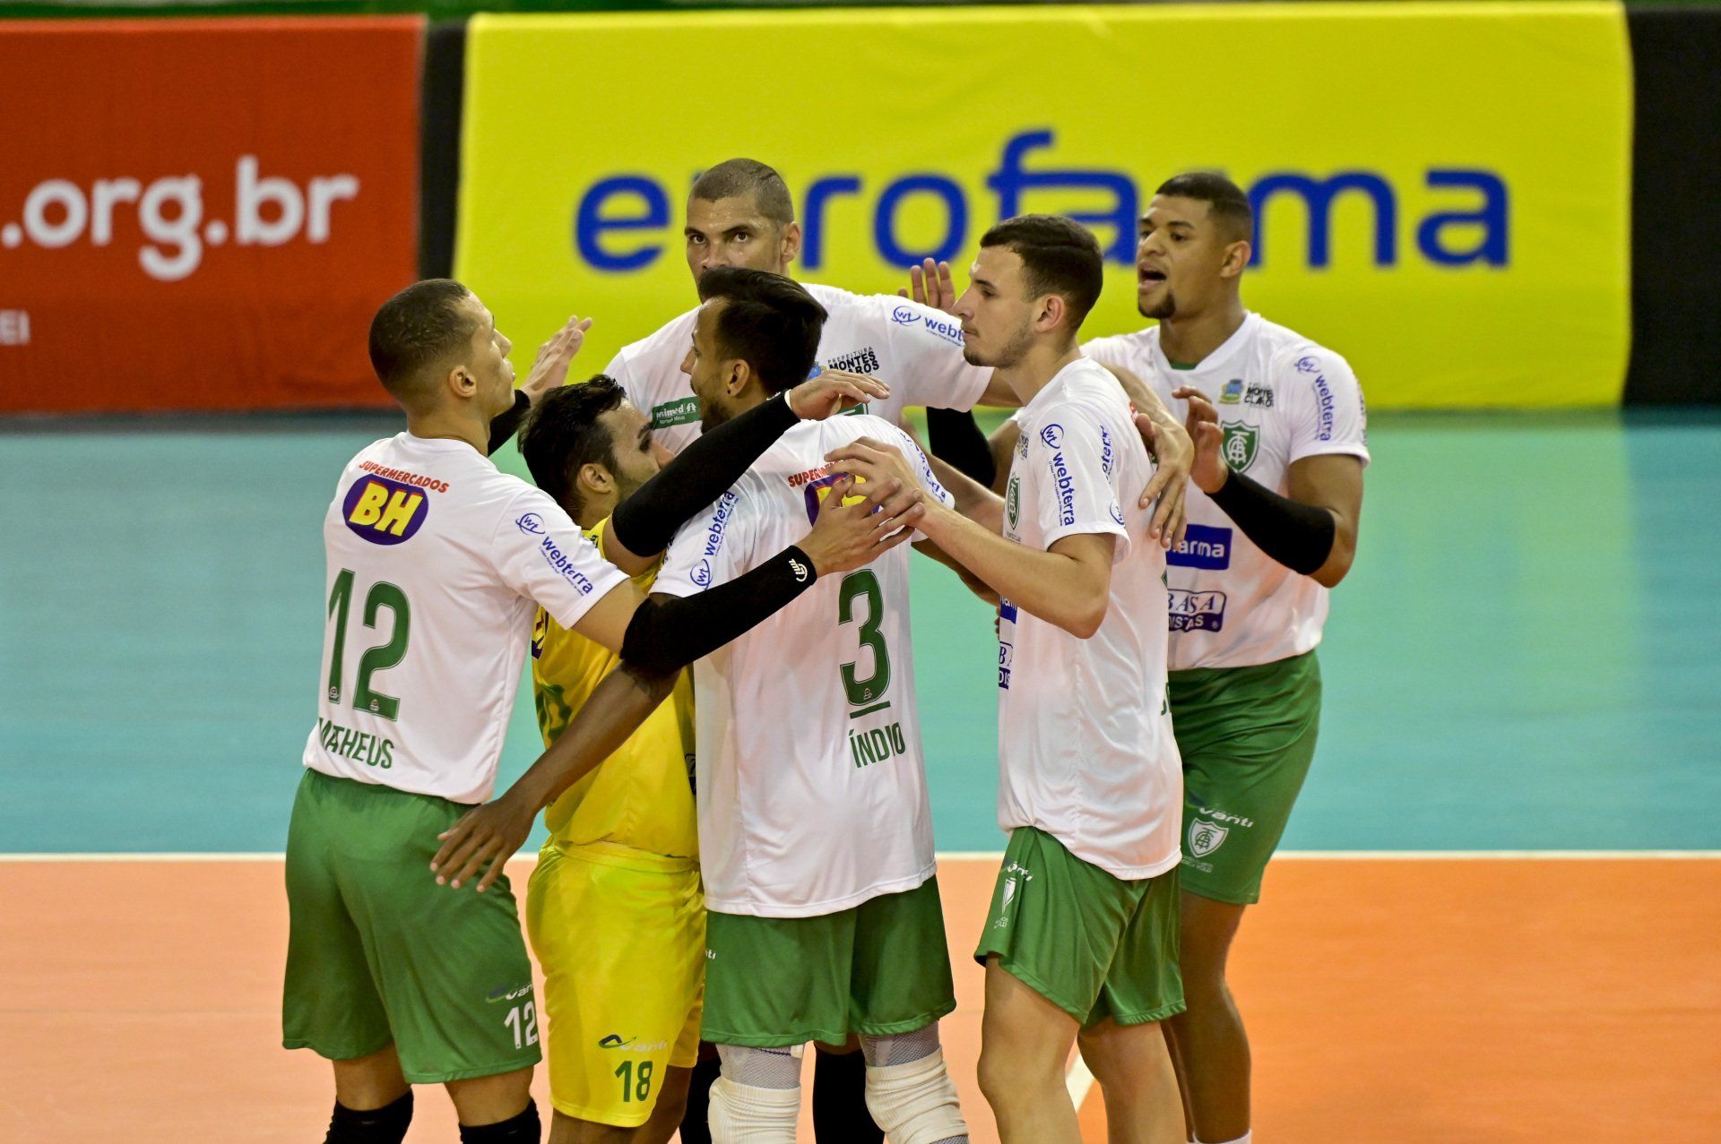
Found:
[[[1182,760],[1165,707],[1165,556],[1136,502],[1153,470],[1117,378],[1079,358],[1022,406],[1003,535],[1117,537],[1100,630],[998,609],[998,826],[1034,826],[1122,879],[1177,865]]]

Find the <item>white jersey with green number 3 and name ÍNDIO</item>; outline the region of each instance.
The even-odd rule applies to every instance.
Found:
[[[652,592],[692,595],[807,535],[835,477],[824,454],[860,437],[919,458],[876,416],[790,428],[669,544]],[[699,852],[719,913],[817,917],[933,876],[909,638],[909,549],[800,599],[694,669]]]

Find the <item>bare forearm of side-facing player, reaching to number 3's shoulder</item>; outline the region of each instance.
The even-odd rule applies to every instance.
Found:
[[[1088,638],[1105,619],[1107,581],[1062,552],[1039,552],[988,532],[953,509],[928,509],[921,532],[1017,607]]]

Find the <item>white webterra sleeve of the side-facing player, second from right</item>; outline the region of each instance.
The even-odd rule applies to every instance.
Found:
[[[1039,468],[1034,482],[1039,530],[1050,549],[1064,537],[1105,533],[1117,537],[1112,563],[1129,554],[1129,530],[1117,495],[1119,440],[1113,430],[1083,406],[1064,406],[1058,420],[1039,427],[1027,446],[1027,463]],[[1115,430],[1120,432],[1120,430]]]

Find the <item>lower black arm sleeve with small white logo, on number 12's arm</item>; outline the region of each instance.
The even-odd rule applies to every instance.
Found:
[[[621,662],[645,674],[680,671],[786,607],[816,578],[807,554],[788,545],[759,568],[699,595],[651,597],[628,621]]]

